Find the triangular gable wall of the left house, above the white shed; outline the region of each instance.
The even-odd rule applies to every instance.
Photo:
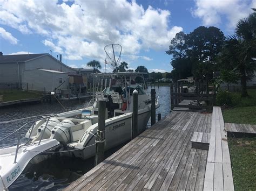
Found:
[[[62,71],[61,72],[76,72],[76,70],[66,67],[65,65],[61,64],[57,60],[51,58],[50,55],[42,56],[41,58],[37,58],[35,60],[31,60],[26,62],[25,69],[51,69]]]

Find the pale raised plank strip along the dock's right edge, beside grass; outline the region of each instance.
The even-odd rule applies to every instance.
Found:
[[[227,133],[220,107],[213,107],[211,128],[204,190],[234,190]]]

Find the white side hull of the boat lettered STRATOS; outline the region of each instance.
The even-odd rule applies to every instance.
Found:
[[[138,112],[138,133],[142,133],[146,129],[147,122],[151,116],[150,108],[145,108]],[[96,151],[95,140],[97,125],[92,125],[91,129],[84,133],[76,146],[70,147],[69,150],[80,148],[80,150],[72,151],[69,156],[87,159],[93,157]],[[90,132],[90,133],[88,133]],[[115,146],[125,143],[132,138],[132,113],[127,113],[105,122],[105,147],[104,150],[109,150]],[[65,153],[68,154],[68,153]]]

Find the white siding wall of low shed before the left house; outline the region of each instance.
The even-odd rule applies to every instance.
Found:
[[[59,77],[62,77],[63,82],[64,80],[66,82],[68,81],[68,74],[51,73],[51,72],[46,72],[44,70],[38,70],[38,69],[25,70],[24,78],[23,78],[24,80],[23,89],[26,89],[27,83],[29,83],[29,90],[31,90],[32,88],[33,90],[44,91],[44,88],[45,88],[46,92],[53,91],[54,88],[57,88],[60,85]],[[67,88],[68,86],[67,84],[63,84],[63,86],[60,88],[62,89]]]

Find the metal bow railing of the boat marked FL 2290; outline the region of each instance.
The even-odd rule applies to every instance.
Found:
[[[44,116],[44,115],[41,115],[41,116]],[[16,163],[16,159],[17,159],[17,155],[18,155],[18,150],[19,150],[19,148],[20,148],[20,147],[19,147],[19,144],[20,144],[20,141],[21,141],[21,134],[22,134],[22,130],[24,129],[24,127],[25,127],[26,125],[28,125],[28,124],[33,123],[32,129],[31,129],[30,134],[29,134],[29,137],[28,137],[28,142],[24,144],[24,145],[26,145],[26,144],[29,143],[29,140],[30,140],[30,137],[31,137],[33,128],[34,128],[34,126],[35,126],[35,123],[36,123],[38,120],[47,119],[46,124],[45,124],[45,128],[44,128],[43,133],[42,133],[42,136],[40,137],[39,142],[38,142],[38,145],[40,145],[41,140],[42,140],[43,135],[44,135],[44,132],[45,132],[45,129],[46,129],[46,126],[48,125],[49,119],[50,119],[51,117],[54,117],[54,116],[56,116],[56,115],[50,115],[50,116],[42,117],[42,118],[40,118],[40,119],[35,119],[35,120],[33,120],[33,121],[29,121],[29,122],[25,123],[24,125],[22,125],[21,128],[19,128],[19,129],[17,129],[16,131],[10,133],[8,136],[6,136],[6,137],[4,137],[4,138],[2,138],[2,139],[0,140],[0,142],[2,142],[3,140],[7,139],[8,137],[14,135],[16,132],[19,132],[18,141],[17,141],[17,147],[16,147],[16,153],[15,153],[15,158],[14,158],[14,163]],[[38,117],[38,116],[37,116],[37,117]],[[22,119],[19,119],[19,120],[22,120]],[[10,122],[11,122],[11,121],[10,121]]]

